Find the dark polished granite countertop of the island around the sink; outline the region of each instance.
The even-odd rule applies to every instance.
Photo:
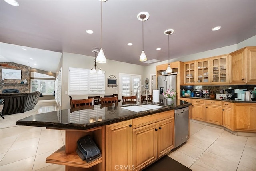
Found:
[[[161,108],[148,109],[140,112],[134,112],[122,108],[130,105],[135,105],[135,102],[118,102],[115,103],[115,107],[112,107],[112,103],[88,106],[83,110],[73,110],[72,113],[70,112],[70,109],[52,111],[20,119],[16,122],[16,125],[86,130],[98,126],[134,119],[137,117],[188,107],[191,105],[191,103],[181,100],[172,101],[170,104],[168,103],[168,105],[158,103],[155,105],[160,105],[162,106]]]

